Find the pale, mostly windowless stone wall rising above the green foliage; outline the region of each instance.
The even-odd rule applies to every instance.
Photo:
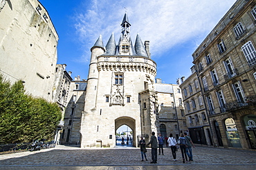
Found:
[[[0,3],[0,74],[28,94],[53,101],[58,35],[37,0]]]

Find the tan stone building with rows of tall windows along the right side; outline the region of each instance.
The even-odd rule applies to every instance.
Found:
[[[192,54],[216,147],[256,149],[255,21],[256,1],[236,1]]]

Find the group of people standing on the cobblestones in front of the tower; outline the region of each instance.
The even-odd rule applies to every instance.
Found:
[[[157,149],[159,148],[159,155],[161,155],[161,151],[163,154],[163,144],[164,144],[164,140],[166,140],[165,138],[163,138],[161,136],[161,134],[158,135],[158,138],[156,138],[155,136],[155,132],[152,132],[152,136],[150,138],[150,141],[147,145],[151,145],[151,153],[152,153],[152,162],[153,164],[157,163]],[[193,161],[193,156],[192,156],[192,146],[194,147],[194,143],[192,142],[190,136],[188,136],[187,132],[181,133],[180,137],[178,138],[178,140],[176,140],[172,134],[170,134],[170,137],[167,138],[167,143],[169,145],[169,147],[171,147],[172,150],[172,157],[173,160],[176,161],[176,152],[178,151],[179,148],[181,148],[181,156],[183,158],[183,163],[185,163],[185,160],[188,161]],[[144,157],[145,160],[147,160],[147,156],[146,156],[146,142],[145,139],[143,138],[143,136],[140,139],[139,142],[140,145],[140,152],[141,152],[141,157],[142,160],[144,161]],[[163,154],[164,155],[164,154]],[[188,156],[188,157],[187,157]]]

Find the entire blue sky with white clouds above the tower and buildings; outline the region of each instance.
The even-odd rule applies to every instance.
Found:
[[[235,0],[39,0],[59,35],[58,64],[66,64],[72,77],[87,79],[91,47],[102,34],[104,45],[113,32],[121,34],[125,12],[136,34],[150,41],[157,76],[163,83],[190,75],[192,53]]]

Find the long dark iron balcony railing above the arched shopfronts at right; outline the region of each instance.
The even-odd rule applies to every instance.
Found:
[[[235,100],[230,103],[226,103],[224,108],[226,108],[226,111],[232,111],[248,107],[250,105],[256,105],[256,96],[247,96],[243,98],[243,100]]]

